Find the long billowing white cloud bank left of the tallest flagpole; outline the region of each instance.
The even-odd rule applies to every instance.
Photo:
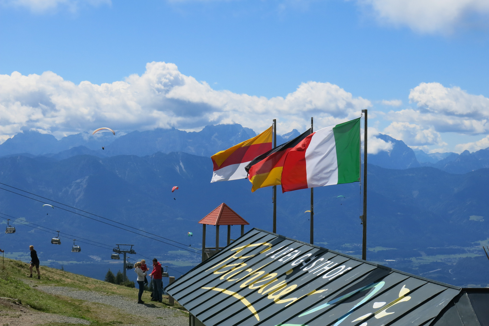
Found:
[[[283,97],[215,91],[183,75],[174,64],[152,62],[125,81],[76,85],[46,71],[41,75],[0,75],[0,139],[23,129],[56,137],[100,126],[116,130],[157,127],[200,129],[208,124],[241,123],[260,132],[277,118],[279,132],[316,128],[360,116],[370,101],[330,83],[302,83]]]

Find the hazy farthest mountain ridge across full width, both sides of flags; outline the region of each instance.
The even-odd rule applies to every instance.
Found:
[[[277,135],[277,144],[299,136],[297,129]],[[0,144],[0,157],[22,154],[26,157],[45,156],[63,160],[76,155],[92,155],[100,158],[117,155],[143,157],[156,152],[184,152],[210,157],[213,154],[256,136],[256,133],[240,124],[206,126],[199,132],[186,132],[156,128],[148,131],[133,131],[122,136],[109,132],[80,133],[56,140],[54,136],[36,131],[24,131]],[[389,169],[407,169],[430,166],[449,173],[463,174],[489,167],[489,149],[474,153],[430,153],[413,150],[402,140],[378,134],[378,139],[392,143],[392,149],[368,155],[368,163]],[[104,147],[104,149],[102,149]]]

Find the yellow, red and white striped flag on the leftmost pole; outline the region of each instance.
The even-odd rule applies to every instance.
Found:
[[[271,148],[272,127],[253,138],[212,155],[214,174],[211,183],[246,178],[245,166],[255,157],[266,153]]]

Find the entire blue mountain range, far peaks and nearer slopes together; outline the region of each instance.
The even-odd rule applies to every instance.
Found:
[[[209,126],[204,130],[134,132],[118,138],[110,134],[111,137],[103,135],[95,140],[79,134],[68,136],[72,142],[26,132],[5,141],[0,145],[3,155],[0,182],[29,193],[0,185],[0,216],[24,219],[50,230],[44,232],[37,226],[34,229],[15,222],[17,232],[2,233],[0,248],[8,256],[25,260],[26,246],[35,244],[44,264],[64,265],[65,269],[80,273],[89,273],[90,269],[94,270],[93,276],[102,278],[106,267],[120,264],[111,263],[111,247],[116,243],[132,243],[139,255],[156,256],[183,273],[200,261],[192,250],[201,246],[201,226],[197,222],[222,202],[250,223],[246,231],[252,227],[271,230],[271,189],[251,193],[247,180],[210,183],[209,156],[255,133],[239,125]],[[299,132],[294,130],[282,135],[280,141],[296,134]],[[485,286],[488,261],[480,246],[489,244],[486,214],[489,204],[485,199],[489,169],[483,167],[466,173],[462,169],[458,173],[445,169],[457,166],[470,169],[467,165],[472,162],[470,158],[478,160],[473,162],[483,161],[486,150],[456,154],[454,160],[445,161],[440,167],[422,166],[442,164],[451,154],[432,163],[422,159],[428,156],[436,160],[432,154],[415,152],[386,135],[378,137],[391,141],[393,148],[369,155],[367,258],[451,284]],[[104,140],[108,142],[105,149],[96,148]],[[165,140],[170,144],[165,144]],[[195,155],[195,144],[202,144],[201,155]],[[139,155],[119,153],[128,153],[130,148],[138,150]],[[143,155],[155,148],[160,151]],[[25,154],[12,153],[15,149]],[[165,149],[170,152],[162,152]],[[174,193],[173,186],[179,186]],[[309,191],[278,192],[277,232],[309,242],[309,214],[304,213],[309,210]],[[339,195],[345,198],[338,198]],[[358,184],[316,188],[314,196],[314,242],[360,256]],[[85,212],[74,214],[70,212],[73,208],[45,198]],[[44,203],[56,208],[43,207]],[[5,226],[3,218],[0,223]],[[139,231],[117,222],[156,235],[146,233],[148,237],[143,237],[135,234]],[[49,243],[56,230],[65,236],[61,246]],[[239,236],[239,230],[232,227],[231,238]],[[221,231],[223,245],[226,235],[225,230]],[[188,232],[193,235],[188,236]],[[213,227],[208,227],[207,233],[207,239],[214,238]],[[73,238],[81,244],[81,253],[69,251]]]

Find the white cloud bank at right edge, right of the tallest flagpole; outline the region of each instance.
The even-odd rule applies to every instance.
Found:
[[[489,133],[489,98],[473,95],[460,87],[445,87],[440,83],[421,83],[409,93],[415,108],[390,111],[385,118],[394,121],[384,132],[410,146],[426,149],[445,147],[440,133],[466,135]],[[456,145],[456,150],[471,151],[487,148],[489,140]]]

